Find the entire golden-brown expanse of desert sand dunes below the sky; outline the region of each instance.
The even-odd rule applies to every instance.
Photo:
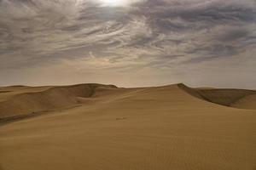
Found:
[[[0,126],[0,170],[256,169],[254,91],[1,90],[2,118],[48,112]]]

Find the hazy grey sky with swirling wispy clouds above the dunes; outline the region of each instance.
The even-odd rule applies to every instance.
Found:
[[[256,89],[255,0],[0,0],[0,86]]]

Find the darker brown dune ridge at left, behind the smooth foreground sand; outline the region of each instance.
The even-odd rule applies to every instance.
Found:
[[[13,88],[13,87],[12,87]],[[15,94],[9,99],[0,102],[0,120],[10,117],[20,117],[35,112],[50,111],[61,107],[79,105],[83,98],[91,98],[96,88],[117,88],[113,85],[79,84],[43,88],[41,91]],[[33,88],[31,88],[33,90]],[[2,91],[9,93],[11,91]],[[0,96],[1,99],[1,96]]]

